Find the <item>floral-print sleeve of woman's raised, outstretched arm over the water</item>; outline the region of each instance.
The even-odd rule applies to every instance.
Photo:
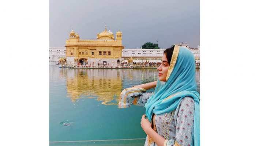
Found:
[[[127,108],[132,104],[144,106],[153,94],[153,92],[146,92],[144,88],[126,88],[120,93],[118,107]]]

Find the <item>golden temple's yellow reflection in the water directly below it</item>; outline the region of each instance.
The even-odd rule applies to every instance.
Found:
[[[80,98],[97,98],[105,105],[116,104],[110,101],[121,93],[120,70],[67,69],[64,72],[67,76],[67,96],[73,103]]]

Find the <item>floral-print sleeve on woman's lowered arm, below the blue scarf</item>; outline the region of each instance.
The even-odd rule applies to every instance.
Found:
[[[167,146],[193,146],[195,102],[191,97],[184,97],[174,114],[176,141],[168,141]]]

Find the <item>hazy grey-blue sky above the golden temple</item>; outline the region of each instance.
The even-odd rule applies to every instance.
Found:
[[[74,29],[80,39],[96,39],[105,29],[123,32],[126,49],[146,42],[168,48],[200,45],[199,0],[50,0],[50,47],[63,47]]]

